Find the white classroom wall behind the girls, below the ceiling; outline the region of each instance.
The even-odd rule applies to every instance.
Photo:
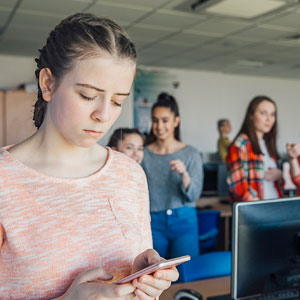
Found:
[[[0,56],[0,88],[34,81],[34,70],[34,58]],[[231,137],[234,137],[249,101],[258,94],[271,97],[278,105],[279,151],[285,151],[286,142],[300,141],[300,81],[176,69],[168,72],[175,74],[180,82],[176,98],[182,119],[182,140],[201,152],[216,151],[219,118],[231,120]],[[132,126],[133,98],[130,96],[112,130]],[[101,144],[107,143],[112,130]]]

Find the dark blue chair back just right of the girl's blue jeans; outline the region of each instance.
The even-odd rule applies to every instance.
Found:
[[[200,253],[215,250],[220,226],[220,211],[198,210]]]

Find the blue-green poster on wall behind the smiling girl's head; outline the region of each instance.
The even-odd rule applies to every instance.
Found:
[[[151,107],[157,96],[167,92],[176,98],[179,86],[175,74],[138,69],[134,83],[134,127],[142,133],[150,133]]]

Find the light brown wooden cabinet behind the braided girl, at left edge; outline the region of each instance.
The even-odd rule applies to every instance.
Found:
[[[1,146],[19,143],[36,131],[32,120],[36,97],[23,90],[2,92]]]

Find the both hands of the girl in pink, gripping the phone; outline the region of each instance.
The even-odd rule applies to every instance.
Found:
[[[164,261],[165,259],[161,258],[155,250],[146,250],[136,257],[132,273],[144,271],[144,268]],[[99,300],[153,300],[169,288],[171,282],[176,281],[178,276],[177,269],[171,267],[159,269],[152,274],[141,275],[130,282],[108,284],[105,281],[110,281],[112,276],[103,268],[94,268],[81,273],[66,293],[55,300],[92,300],[95,298]],[[122,280],[119,281],[121,283]]]

